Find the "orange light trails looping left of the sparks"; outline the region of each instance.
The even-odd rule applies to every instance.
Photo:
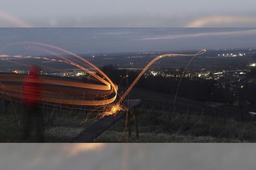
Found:
[[[46,57],[32,57],[32,56],[27,56],[27,57],[22,57],[22,56],[13,56],[15,58],[32,58],[32,59],[44,59],[44,60],[48,60],[48,61],[58,61],[58,62],[62,62],[62,63],[67,63],[67,64],[71,64],[73,66],[76,66],[80,69],[82,69],[83,71],[87,72],[88,74],[90,74],[90,76],[92,76],[93,78],[95,78],[96,81],[104,84],[89,84],[89,83],[82,83],[82,82],[72,82],[72,81],[66,81],[66,80],[48,80],[47,78],[42,78],[42,79],[31,79],[31,82],[37,82],[37,83],[41,83],[41,84],[48,84],[48,85],[60,85],[60,86],[70,86],[70,87],[77,87],[77,88],[85,88],[85,89],[92,89],[92,90],[104,90],[105,93],[99,93],[101,96],[109,96],[109,94],[112,94],[112,92],[114,92],[114,97],[111,98],[107,98],[107,99],[103,99],[103,100],[70,100],[70,99],[60,99],[60,98],[53,98],[53,97],[49,97],[49,96],[44,96],[43,98],[40,99],[40,102],[51,102],[51,103],[58,103],[58,104],[70,104],[70,105],[82,105],[82,106],[99,106],[99,105],[106,105],[106,104],[110,104],[112,102],[115,101],[116,96],[117,96],[117,86],[116,84],[114,84],[112,82],[112,80],[110,80],[110,78],[108,78],[108,76],[102,72],[102,70],[100,70],[97,66],[95,66],[94,64],[90,63],[89,61],[87,61],[86,59],[83,59],[82,57],[80,57],[79,55],[76,55],[70,51],[67,51],[65,49],[62,49],[60,47],[56,47],[53,45],[48,45],[48,44],[44,44],[44,43],[37,43],[37,42],[28,42],[28,41],[23,41],[23,42],[17,42],[17,43],[12,43],[9,45],[5,45],[1,51],[3,49],[5,49],[6,47],[9,47],[11,45],[18,45],[18,44],[32,44],[32,45],[40,45],[40,46],[44,46],[44,47],[50,47],[52,49],[56,49],[65,53],[68,53],[69,55],[72,55],[78,59],[80,59],[81,61],[83,61],[84,63],[88,64],[89,66],[91,66],[92,68],[94,68],[94,70],[96,70],[98,72],[98,74],[102,75],[102,77],[100,77],[99,75],[95,74],[94,72],[90,71],[89,69],[81,66],[80,64],[77,64],[74,61],[71,61],[70,59],[67,59],[66,57],[59,55],[57,53],[54,53],[50,50],[47,49],[43,49],[41,47],[36,47],[37,50],[43,50],[46,51],[52,55],[56,55],[58,57],[60,57],[62,60],[56,60],[56,59],[48,59]],[[30,47],[31,48],[31,47]],[[10,57],[8,55],[1,55],[0,57]],[[2,81],[13,81],[13,82],[24,82],[26,81],[24,78],[22,79],[22,76],[14,76],[14,77],[10,77],[8,78],[8,76],[6,75],[1,75],[1,80]],[[13,97],[19,97],[18,94],[13,94],[10,93]],[[98,98],[100,97],[98,94]],[[97,96],[97,95],[95,95]],[[31,98],[31,100],[34,100],[34,98]]]

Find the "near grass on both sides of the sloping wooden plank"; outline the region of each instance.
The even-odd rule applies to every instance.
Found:
[[[256,142],[256,122],[238,122],[233,119],[215,118],[197,112],[180,109],[172,115],[169,111],[143,109],[138,111],[139,139],[134,134],[134,119],[130,121],[132,136],[124,133],[125,117],[95,139],[97,143],[243,143]],[[57,124],[48,124],[45,129],[46,142],[68,142],[93,123],[79,125],[83,117],[56,117]],[[47,117],[45,118],[47,119]],[[62,121],[59,124],[59,119]],[[22,122],[22,121],[21,121]],[[0,142],[37,142],[35,131],[28,141],[21,141],[15,115],[0,115]]]

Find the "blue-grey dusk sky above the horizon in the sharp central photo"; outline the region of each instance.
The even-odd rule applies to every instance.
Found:
[[[0,37],[1,47],[36,41],[79,54],[256,46],[255,28],[0,28]],[[34,53],[23,46],[9,47],[2,54]]]

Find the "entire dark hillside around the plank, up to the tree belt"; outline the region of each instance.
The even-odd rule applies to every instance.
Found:
[[[221,109],[210,109],[207,103],[178,98],[178,105],[173,114],[173,96],[134,89],[130,98],[142,99],[137,107],[139,139],[133,132],[128,138],[125,131],[126,117],[122,117],[108,130],[102,133],[94,142],[255,142],[256,122],[251,117],[242,120],[240,115],[226,114]],[[168,104],[169,103],[169,104]],[[224,106],[222,106],[224,108]],[[204,109],[203,109],[204,108]],[[1,142],[36,142],[33,131],[28,141],[22,141],[22,128],[18,127],[16,116],[9,105],[6,113],[0,112],[0,141]],[[19,115],[22,122],[22,116]],[[74,113],[45,113],[45,141],[68,142],[95,120],[84,120],[84,115]],[[249,120],[248,120],[249,119]]]

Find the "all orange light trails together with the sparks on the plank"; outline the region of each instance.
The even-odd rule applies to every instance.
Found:
[[[118,102],[116,102],[114,104],[117,94],[118,94],[117,93],[118,86],[116,84],[114,84],[112,82],[112,80],[110,80],[110,78],[108,78],[108,76],[94,64],[90,63],[89,61],[80,57],[79,55],[76,55],[75,53],[72,53],[70,51],[62,49],[60,47],[56,47],[54,45],[48,45],[48,44],[44,44],[44,43],[38,43],[38,42],[23,41],[23,42],[12,43],[9,45],[5,45],[1,49],[1,51],[3,49],[5,49],[6,47],[9,47],[12,45],[19,45],[19,44],[38,45],[39,47],[29,46],[29,47],[27,47],[27,49],[44,51],[46,53],[49,53],[51,55],[54,55],[54,56],[60,58],[61,60],[49,59],[47,57],[33,57],[33,56],[24,57],[24,56],[20,56],[20,55],[17,55],[17,56],[0,55],[0,58],[13,57],[13,58],[23,58],[23,59],[42,59],[42,60],[46,60],[46,62],[50,61],[50,62],[60,62],[60,63],[70,64],[72,66],[77,67],[77,69],[83,70],[84,72],[88,73],[90,76],[92,76],[91,79],[93,81],[96,81],[99,83],[99,84],[95,84],[95,83],[92,84],[92,83],[76,82],[76,81],[63,80],[60,78],[49,78],[49,77],[41,76],[40,79],[30,79],[30,82],[40,83],[40,84],[46,86],[43,88],[44,91],[42,93],[43,94],[42,98],[36,99],[35,97],[34,98],[30,97],[29,98],[30,100],[39,100],[39,102],[41,102],[41,103],[49,102],[50,104],[57,103],[57,104],[67,104],[67,105],[79,105],[79,106],[103,106],[103,105],[106,105],[103,107],[102,113],[98,114],[98,116],[100,118],[107,116],[107,115],[116,115],[119,111],[125,110],[125,107],[122,106],[121,103],[124,101],[126,96],[129,94],[129,92],[132,90],[132,88],[138,82],[138,80],[140,80],[141,76],[146,72],[146,70],[148,70],[148,68],[153,63],[155,63],[157,60],[162,59],[164,57],[176,57],[176,56],[193,56],[192,59],[194,59],[194,57],[196,57],[197,55],[201,55],[201,54],[205,53],[205,51],[206,51],[205,49],[203,49],[196,54],[168,53],[168,54],[163,54],[163,55],[159,55],[159,56],[155,57],[152,61],[150,61],[142,69],[142,71],[138,74],[138,76],[132,82],[132,84],[127,88],[127,90],[122,94],[122,96],[120,96],[120,99],[118,100]],[[70,58],[64,57],[63,55],[60,55],[60,54],[50,51],[48,49],[42,48],[40,46],[56,49],[58,51],[62,51],[69,55],[72,55],[73,57],[76,57],[76,59],[78,59],[78,61],[82,61],[83,64],[88,64],[91,68],[85,68],[84,66],[78,64],[77,62],[71,60]],[[186,68],[188,67],[188,65],[190,64],[192,59],[187,64]],[[185,68],[184,72],[186,71],[186,68]],[[138,68],[138,69],[140,69],[140,68]],[[67,69],[67,70],[76,70],[76,69]],[[100,74],[103,78],[101,76],[99,76],[98,74],[92,72],[91,70],[98,72],[98,74]],[[182,74],[184,74],[184,72]],[[2,82],[24,83],[24,82],[26,82],[25,78],[26,78],[26,75],[14,74],[14,75],[10,76],[10,74],[0,74],[0,80]],[[180,82],[181,82],[181,80],[182,80],[182,77],[180,79]],[[180,82],[179,82],[179,85],[180,85]],[[53,86],[57,85],[58,89],[57,90],[54,88],[52,89],[52,88],[50,88],[51,87],[50,85],[53,85]],[[179,85],[178,85],[178,88],[179,88]],[[50,89],[47,89],[47,88],[50,88]],[[77,88],[77,89],[74,90],[74,88]],[[84,97],[81,98],[82,94],[81,94],[79,88],[80,88],[80,90],[82,89],[82,91],[84,91],[85,89],[87,90],[85,95],[87,98],[90,98],[90,100],[84,100]],[[178,94],[178,88],[177,88],[176,96]],[[73,89],[73,90],[70,90],[70,89]],[[9,84],[8,88],[6,90],[9,90],[9,92],[8,92],[9,96],[12,96],[14,98],[20,98],[20,96],[21,96],[19,94],[19,92],[20,92],[19,85]],[[2,93],[6,94],[4,92],[2,92]],[[62,94],[63,96],[66,95],[66,97],[59,98],[58,97],[59,94]],[[114,96],[108,98],[112,94],[114,94]],[[72,95],[73,97],[76,97],[76,99],[70,99],[70,95]],[[98,98],[102,98],[102,99],[98,100]],[[176,98],[175,98],[175,101],[176,101]],[[98,108],[97,108],[97,110],[98,110]]]

